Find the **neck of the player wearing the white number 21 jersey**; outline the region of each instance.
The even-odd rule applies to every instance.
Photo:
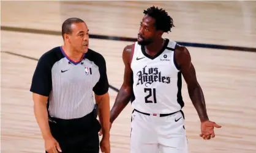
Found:
[[[164,46],[165,40],[160,38],[151,44],[145,46],[145,51],[147,54],[154,56],[156,55]]]

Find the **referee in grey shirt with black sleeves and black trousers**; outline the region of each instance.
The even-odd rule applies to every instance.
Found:
[[[64,21],[63,46],[43,54],[32,77],[34,114],[48,153],[99,153],[99,148],[110,152],[106,63],[101,54],[88,48],[88,32],[79,18]]]

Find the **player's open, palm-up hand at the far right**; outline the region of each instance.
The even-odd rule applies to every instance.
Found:
[[[202,137],[205,140],[209,140],[211,138],[214,138],[215,137],[214,127],[220,128],[221,126],[219,126],[215,122],[212,122],[212,121],[209,121],[209,120],[202,122],[201,123],[200,137]]]

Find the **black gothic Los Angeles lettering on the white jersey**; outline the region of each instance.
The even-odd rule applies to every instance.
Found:
[[[158,68],[146,68],[145,66],[141,71],[138,71],[138,82],[136,85],[143,85],[148,87],[148,84],[152,84],[153,82],[162,82],[165,84],[170,84],[171,78],[167,76],[162,76],[161,72]]]

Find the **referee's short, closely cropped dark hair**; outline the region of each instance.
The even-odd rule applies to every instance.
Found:
[[[64,23],[62,23],[62,38],[64,39],[64,34],[72,34],[71,25],[73,23],[85,23],[85,21],[80,18],[68,18]]]

